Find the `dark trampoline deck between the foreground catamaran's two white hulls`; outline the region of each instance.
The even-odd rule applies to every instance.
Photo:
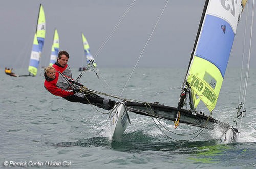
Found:
[[[128,111],[140,115],[176,121],[177,114],[180,112],[180,123],[207,129],[214,129],[216,125],[224,129],[230,127],[228,123],[205,116],[202,112],[193,112],[157,103],[124,102],[124,104]]]

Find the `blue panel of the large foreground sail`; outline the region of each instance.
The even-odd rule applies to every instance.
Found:
[[[223,78],[234,35],[228,22],[216,16],[206,15],[196,55],[214,64],[220,70]]]

